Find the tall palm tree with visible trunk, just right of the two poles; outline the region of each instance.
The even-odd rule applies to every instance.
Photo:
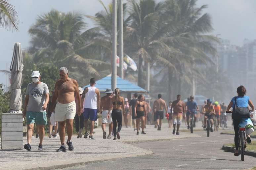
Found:
[[[139,3],[131,0],[130,15],[132,23],[126,39],[127,51],[131,56],[136,56],[138,61],[138,85],[143,87],[143,61],[155,62],[168,67],[175,68],[174,65],[163,57],[164,54],[173,55],[179,53],[171,46],[167,46],[162,38],[166,36],[170,28],[165,27],[161,18],[164,10],[162,2],[156,3],[155,0],[140,0]],[[127,52],[129,53],[129,52]],[[167,56],[167,55],[166,55]],[[148,65],[149,67],[149,65]]]

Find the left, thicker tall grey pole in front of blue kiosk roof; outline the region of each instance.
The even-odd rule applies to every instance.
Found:
[[[116,88],[116,0],[112,0],[112,72],[111,72],[111,88]]]

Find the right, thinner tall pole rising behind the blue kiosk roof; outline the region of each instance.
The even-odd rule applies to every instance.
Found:
[[[124,45],[123,45],[123,0],[119,0],[119,69],[120,77],[124,78]]]

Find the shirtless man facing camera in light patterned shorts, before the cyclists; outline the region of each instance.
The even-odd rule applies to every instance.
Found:
[[[185,104],[184,102],[181,100],[181,95],[177,95],[177,100],[172,102],[172,107],[171,107],[171,112],[173,111],[173,132],[172,134],[175,134],[175,130],[176,130],[176,124],[177,124],[177,131],[176,131],[176,135],[179,135],[179,129],[180,129],[180,125],[182,122],[182,113],[183,113],[183,118],[186,118],[185,115]]]

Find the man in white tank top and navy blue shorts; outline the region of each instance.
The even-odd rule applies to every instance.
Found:
[[[89,135],[89,133],[87,132],[89,117],[91,121],[89,139],[93,139],[92,132],[94,128],[94,121],[98,119],[98,111],[100,108],[101,99],[100,90],[95,87],[95,82],[95,78],[91,78],[90,87],[86,87],[84,89],[81,98],[85,127],[84,138],[87,138],[87,136]]]

